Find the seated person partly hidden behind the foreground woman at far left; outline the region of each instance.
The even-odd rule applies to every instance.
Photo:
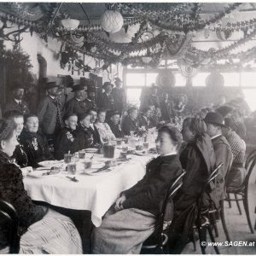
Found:
[[[21,168],[27,166],[27,155],[24,151],[23,146],[20,144],[20,133],[23,130],[24,118],[23,114],[17,110],[10,110],[3,115],[4,119],[12,120],[16,125],[16,133],[18,145],[15,148],[15,152],[12,155],[12,159],[15,160],[15,163],[18,164]]]

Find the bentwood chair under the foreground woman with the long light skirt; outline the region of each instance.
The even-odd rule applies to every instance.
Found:
[[[154,233],[148,237],[146,241],[143,242],[143,247],[141,253],[147,253],[149,251],[154,253],[166,253],[166,243],[168,241],[168,236],[166,235],[166,230],[172,223],[172,220],[169,222],[165,221],[165,215],[167,208],[170,206],[170,202],[172,202],[173,197],[177,194],[177,190],[181,188],[183,185],[182,178],[186,172],[183,172],[177,179],[172,183],[170,188],[167,190],[165,195],[163,205],[161,208],[160,216],[157,219],[156,227]],[[173,206],[173,205],[172,205]],[[165,248],[164,248],[165,247]],[[165,249],[165,250],[164,250]]]

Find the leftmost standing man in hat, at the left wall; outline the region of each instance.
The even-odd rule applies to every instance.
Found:
[[[15,81],[11,89],[13,98],[6,104],[4,112],[17,110],[23,115],[30,113],[27,102],[23,100],[25,86],[19,81]]]

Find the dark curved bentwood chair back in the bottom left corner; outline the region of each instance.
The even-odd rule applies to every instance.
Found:
[[[1,223],[9,226],[9,253],[19,253],[20,251],[20,236],[18,235],[18,215],[9,202],[0,200],[0,216]]]

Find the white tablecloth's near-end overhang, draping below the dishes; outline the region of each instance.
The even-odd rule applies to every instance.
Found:
[[[120,192],[130,189],[143,178],[146,163],[151,158],[133,155],[132,160],[114,167],[113,171],[92,176],[77,172],[79,183],[70,181],[65,172],[56,176],[26,177],[25,189],[35,201],[45,201],[56,207],[89,210],[92,223],[98,227],[102,224],[102,216]]]

